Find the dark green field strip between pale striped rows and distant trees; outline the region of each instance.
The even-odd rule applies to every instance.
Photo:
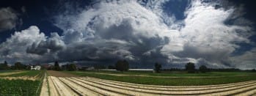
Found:
[[[256,73],[213,72],[213,73],[144,73],[142,72],[68,72],[74,75],[122,81],[134,84],[153,84],[167,86],[200,86],[213,84],[230,84],[241,81],[256,80]],[[102,74],[103,73],[103,74]],[[117,75],[113,75],[117,73]],[[122,75],[123,74],[123,75]],[[156,75],[155,75],[156,74]],[[164,74],[164,75],[162,75]],[[211,76],[212,75],[212,76]]]

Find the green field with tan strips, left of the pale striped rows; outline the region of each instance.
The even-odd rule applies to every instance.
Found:
[[[4,73],[9,74],[0,75],[0,95],[40,95],[43,70],[10,70]]]

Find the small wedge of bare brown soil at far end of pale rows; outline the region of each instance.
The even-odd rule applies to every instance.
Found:
[[[56,77],[78,77],[78,75],[73,75],[70,73],[63,73],[61,71],[55,71],[55,70],[47,70],[47,73],[50,76],[56,76]]]

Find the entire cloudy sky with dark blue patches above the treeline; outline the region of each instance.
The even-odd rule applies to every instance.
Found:
[[[1,0],[0,62],[256,68],[254,0]]]

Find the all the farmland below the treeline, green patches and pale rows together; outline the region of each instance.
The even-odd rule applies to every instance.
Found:
[[[256,95],[255,73],[168,75],[52,70],[4,73],[12,74],[0,76],[0,95]]]

